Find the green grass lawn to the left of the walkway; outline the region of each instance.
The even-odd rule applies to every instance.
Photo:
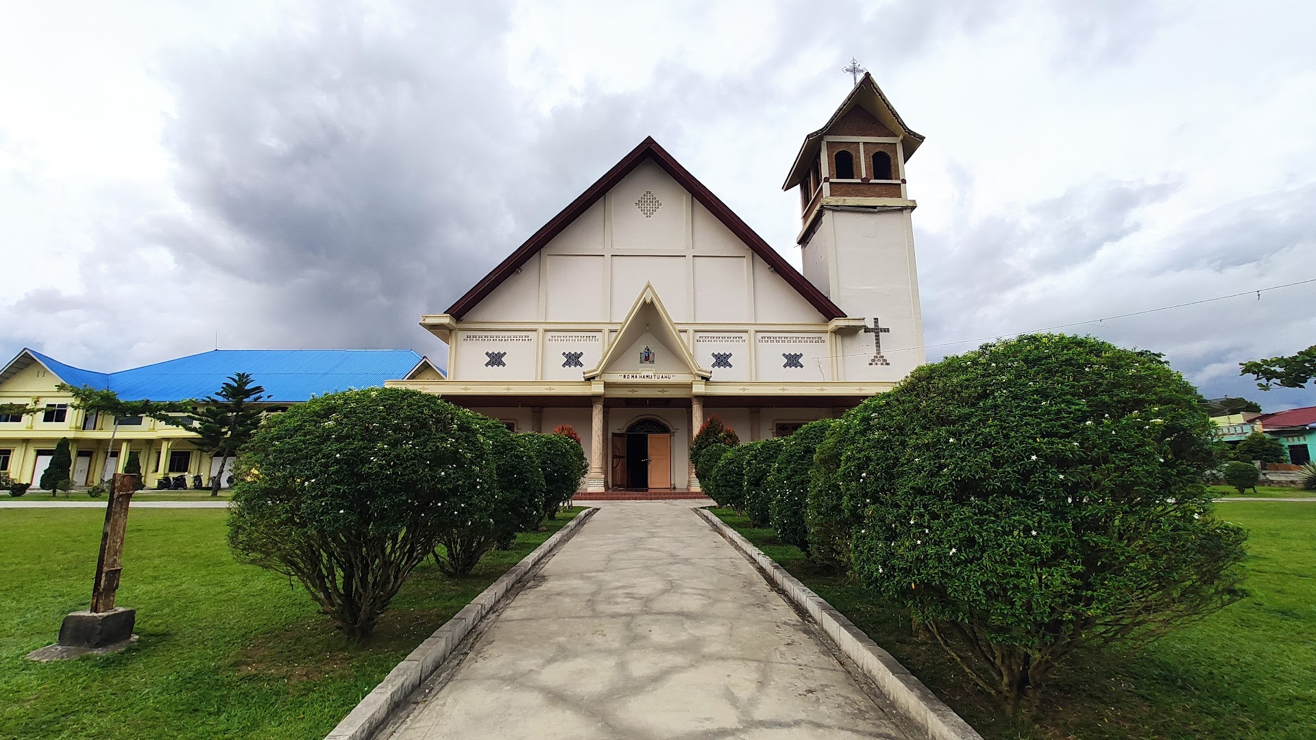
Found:
[[[234,562],[226,512],[134,511],[118,604],[137,610],[139,641],[50,664],[22,656],[53,643],[64,614],[87,608],[104,515],[0,511],[0,737],[324,737],[403,656],[579,511],[487,554],[470,578],[421,565],[362,647],[340,637],[300,586]]]

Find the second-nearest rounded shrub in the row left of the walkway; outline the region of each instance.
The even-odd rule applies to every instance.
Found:
[[[497,419],[479,416],[480,436],[494,460],[496,485],[483,516],[471,517],[440,537],[434,562],[449,575],[468,575],[494,548],[511,546],[517,532],[529,532],[544,516],[544,473],[534,445]]]

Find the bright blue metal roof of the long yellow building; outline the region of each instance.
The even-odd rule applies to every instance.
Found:
[[[32,354],[63,382],[109,388],[124,400],[205,398],[229,375],[250,373],[265,386],[267,403],[383,386],[404,378],[422,359],[409,349],[216,349],[118,373],[93,373]]]

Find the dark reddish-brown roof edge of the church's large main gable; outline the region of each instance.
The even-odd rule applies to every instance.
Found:
[[[822,295],[813,283],[791,266],[775,249],[769,246],[763,237],[754,233],[754,229],[740,219],[730,208],[726,207],[711,190],[704,187],[704,183],[695,179],[688,170],[680,166],[671,154],[667,154],[662,146],[654,138],[645,137],[638,146],[630,150],[629,154],[621,158],[620,162],[613,165],[611,170],[604,172],[592,186],[586,188],[579,198],[571,201],[570,205],[562,209],[561,213],[549,220],[547,224],[534,232],[522,244],[516,248],[516,251],[509,254],[507,259],[500,262],[497,267],[494,267],[488,275],[484,275],[471,290],[466,291],[466,295],[457,299],[457,303],[447,308],[447,313],[455,319],[461,319],[467,311],[475,308],[480,300],[494,292],[494,288],[500,286],[503,280],[516,273],[516,269],[525,263],[526,259],[533,257],[541,249],[547,246],[553,237],[562,233],[572,221],[579,219],[596,200],[604,196],[609,190],[613,188],[622,178],[630,174],[641,162],[645,159],[653,159],[659,167],[662,167],[671,179],[676,180],[679,186],[686,188],[700,205],[708,209],[719,221],[722,223],[733,234],[736,234],[750,251],[757,254],[759,259],[767,262],[778,275],[780,275],[792,288],[795,288],[813,308],[817,308],[825,319],[841,319],[845,316],[845,311],[841,311],[834,303],[832,303],[828,296]]]

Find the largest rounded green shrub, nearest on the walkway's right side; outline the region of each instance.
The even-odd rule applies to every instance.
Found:
[[[1091,337],[924,365],[829,436],[854,571],[1012,711],[1079,648],[1219,610],[1245,533],[1212,516],[1198,400],[1161,356]]]

